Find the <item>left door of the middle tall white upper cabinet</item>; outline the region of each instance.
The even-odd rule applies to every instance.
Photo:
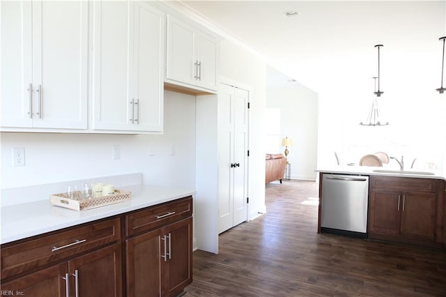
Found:
[[[133,5],[93,1],[93,128],[129,130]]]

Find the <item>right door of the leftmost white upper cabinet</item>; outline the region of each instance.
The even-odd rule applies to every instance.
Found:
[[[86,129],[89,3],[32,5],[33,127]]]

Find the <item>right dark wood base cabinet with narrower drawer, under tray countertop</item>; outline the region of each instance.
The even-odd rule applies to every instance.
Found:
[[[180,294],[192,282],[192,199],[139,211],[127,222],[127,296]]]

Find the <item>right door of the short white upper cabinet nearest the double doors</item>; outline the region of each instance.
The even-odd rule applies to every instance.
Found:
[[[198,82],[208,89],[217,89],[217,41],[203,33],[197,34]]]

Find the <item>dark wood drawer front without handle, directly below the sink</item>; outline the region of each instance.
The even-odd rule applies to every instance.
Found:
[[[408,177],[370,177],[370,188],[387,190],[436,192],[436,180],[429,178]]]

